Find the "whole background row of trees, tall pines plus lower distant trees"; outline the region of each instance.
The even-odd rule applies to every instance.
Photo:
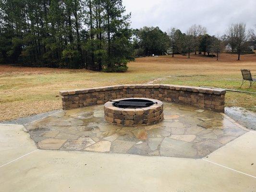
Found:
[[[230,48],[240,55],[256,41],[256,28],[232,24],[223,36],[201,25],[131,29],[122,0],[1,0],[0,63],[32,67],[125,72],[135,57],[171,53],[214,57]]]

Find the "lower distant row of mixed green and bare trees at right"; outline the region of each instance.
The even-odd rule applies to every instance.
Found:
[[[159,27],[143,27],[133,30],[134,54],[137,57],[152,54],[162,55],[204,54],[219,59],[219,53],[227,51],[238,54],[238,60],[243,53],[253,53],[249,48],[250,41],[256,44],[256,28],[246,30],[245,24],[232,24],[222,36],[210,36],[206,27],[192,25],[186,33],[171,28],[163,32]]]

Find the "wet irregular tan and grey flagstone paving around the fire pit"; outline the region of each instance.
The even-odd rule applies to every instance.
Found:
[[[164,120],[122,127],[104,121],[103,105],[60,111],[26,126],[38,148],[201,158],[246,132],[220,113],[164,103]]]

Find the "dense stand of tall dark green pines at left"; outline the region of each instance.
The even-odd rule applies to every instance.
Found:
[[[122,0],[2,0],[0,62],[124,72],[129,19]]]

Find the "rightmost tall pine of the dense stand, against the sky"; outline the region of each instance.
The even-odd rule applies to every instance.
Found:
[[[132,31],[129,29],[131,14],[124,14],[122,0],[104,0],[103,7],[106,12],[104,28],[107,32],[108,47],[105,71],[124,72],[132,53]]]

